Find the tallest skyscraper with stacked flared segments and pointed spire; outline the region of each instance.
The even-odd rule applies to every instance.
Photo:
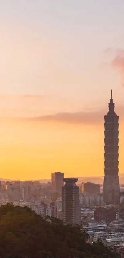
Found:
[[[106,204],[119,204],[120,187],[118,177],[118,120],[119,116],[114,111],[114,103],[111,98],[109,103],[109,111],[104,116],[104,183],[103,183],[103,201]]]

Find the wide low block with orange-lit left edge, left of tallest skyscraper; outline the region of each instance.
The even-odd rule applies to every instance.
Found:
[[[91,182],[82,183],[82,193],[86,192],[89,194],[100,193],[100,185]]]

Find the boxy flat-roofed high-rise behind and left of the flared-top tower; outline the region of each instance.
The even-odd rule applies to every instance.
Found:
[[[52,173],[52,177],[51,177],[52,194],[59,193],[59,195],[61,196],[62,186],[64,185],[63,178],[64,178],[64,173],[61,173],[61,172]]]

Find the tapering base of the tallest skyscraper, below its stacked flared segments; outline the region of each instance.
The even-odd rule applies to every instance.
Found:
[[[120,204],[120,186],[118,176],[104,176],[103,201],[105,204]]]

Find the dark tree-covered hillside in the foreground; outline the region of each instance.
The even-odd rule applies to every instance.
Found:
[[[101,243],[90,245],[78,226],[45,220],[28,207],[0,207],[0,257],[119,257]]]

